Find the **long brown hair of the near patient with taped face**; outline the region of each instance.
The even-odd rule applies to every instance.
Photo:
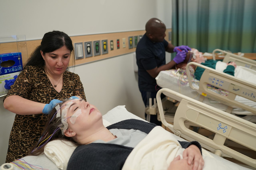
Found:
[[[67,100],[66,100],[67,101]],[[65,103],[66,101],[63,101],[62,103],[59,103],[59,106],[61,107],[63,105],[63,103]],[[38,145],[45,140],[44,142],[42,142],[42,144],[40,146],[42,146],[41,148],[38,148],[37,150],[34,150],[31,154],[29,155],[40,155],[43,153],[44,147],[45,145],[53,140],[57,140],[57,139],[61,139],[61,140],[65,140],[65,141],[70,141],[72,143],[74,143],[75,145],[80,145],[79,143],[77,143],[73,138],[71,137],[66,137],[64,134],[62,134],[61,130],[57,130],[54,134],[53,132],[58,128],[58,125],[62,124],[61,123],[61,117],[56,118],[56,109],[54,108],[51,113],[48,115],[48,120],[46,122],[45,128],[43,130],[43,133],[41,135],[42,139],[40,139],[38,141],[38,143],[36,145],[34,145],[31,149],[30,149],[30,153],[36,149],[38,147]],[[54,117],[53,117],[54,116]],[[51,120],[52,119],[52,120]],[[51,135],[51,139],[46,143],[47,138]],[[45,136],[45,137],[44,137]],[[50,137],[49,137],[50,138]],[[45,144],[45,145],[44,145]]]

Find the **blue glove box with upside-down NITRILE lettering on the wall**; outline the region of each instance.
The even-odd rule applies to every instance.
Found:
[[[21,53],[0,54],[0,75],[22,71]]]

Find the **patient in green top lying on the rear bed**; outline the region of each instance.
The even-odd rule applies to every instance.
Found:
[[[218,71],[221,71],[223,73],[227,73],[227,74],[233,75],[233,76],[234,76],[234,70],[237,67],[235,62],[225,63],[225,62],[216,61],[216,60],[205,61],[205,59],[202,55],[202,52],[199,52],[197,49],[194,49],[194,48],[192,48],[191,51],[189,51],[187,53],[187,57],[186,57],[185,61],[177,64],[176,68],[185,70],[187,63],[189,63],[189,62],[197,62],[204,66],[210,67],[212,69],[216,69]],[[195,73],[194,73],[195,79],[200,80],[205,69],[203,69],[201,67],[195,68],[195,66],[193,66],[193,68],[195,69]]]

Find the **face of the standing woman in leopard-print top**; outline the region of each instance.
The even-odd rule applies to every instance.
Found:
[[[41,55],[45,60],[46,71],[51,75],[61,75],[69,65],[71,51],[63,46],[53,52],[45,53],[41,51]]]

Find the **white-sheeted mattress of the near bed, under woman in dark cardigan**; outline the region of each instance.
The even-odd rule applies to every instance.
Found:
[[[117,106],[115,108],[113,108],[112,110],[110,110],[109,112],[107,112],[105,115],[103,115],[103,124],[105,126],[109,126],[111,124],[114,124],[116,122],[122,121],[122,120],[126,120],[126,119],[138,119],[138,120],[143,120],[142,118],[128,112],[125,108],[125,106]],[[145,121],[145,120],[143,120]],[[176,135],[174,135],[174,137],[178,140],[178,141],[186,141]],[[214,159],[216,159],[217,161],[220,161],[221,163],[225,164],[226,166],[235,166],[238,169],[241,170],[248,170],[248,168],[242,167],[240,165],[237,165],[233,162],[230,162],[226,159],[223,159],[217,155],[214,155],[213,153],[210,153],[204,149],[202,149],[202,153],[205,156],[210,156]],[[59,170],[59,168],[57,168],[57,166],[49,159],[47,158],[47,156],[45,154],[41,154],[39,156],[25,156],[23,157],[23,160],[25,160],[27,163],[33,164],[33,165],[37,165],[37,167],[41,166],[44,169],[51,169],[51,170]],[[14,166],[14,169],[19,169],[17,167]]]

